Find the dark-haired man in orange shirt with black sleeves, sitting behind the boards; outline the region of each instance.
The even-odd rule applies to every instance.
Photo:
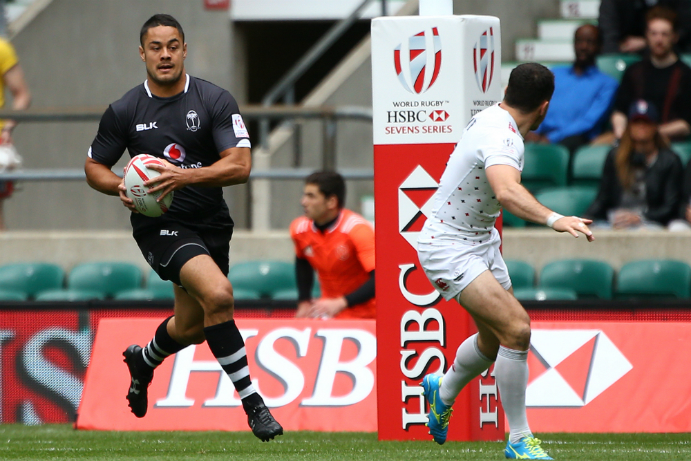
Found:
[[[375,230],[348,209],[339,173],[317,171],[305,180],[305,216],[290,224],[298,284],[296,317],[375,318]],[[312,299],[314,270],[320,299]]]

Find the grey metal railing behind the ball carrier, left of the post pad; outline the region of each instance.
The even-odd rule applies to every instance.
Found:
[[[96,122],[106,110],[105,106],[43,108],[28,109],[26,111],[1,110],[0,119],[12,119],[17,122]],[[321,119],[323,120],[323,153],[322,167],[334,165],[336,156],[336,123],[338,120],[361,120],[372,122],[372,109],[360,106],[272,106],[263,107],[247,105],[240,107],[240,113],[245,120],[287,120],[287,119]],[[272,168],[267,170],[253,170],[251,179],[295,180],[305,178],[312,169],[305,168]],[[345,179],[371,180],[374,178],[372,169],[340,169]],[[84,169],[17,169],[0,172],[0,180],[19,181],[70,181],[84,180]]]

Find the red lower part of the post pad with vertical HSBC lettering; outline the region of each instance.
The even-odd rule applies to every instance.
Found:
[[[453,144],[375,146],[379,438],[429,440],[419,383],[444,373],[474,325],[430,285],[415,250]],[[492,370],[493,368],[491,368]],[[448,440],[504,440],[495,379],[474,379],[454,404]]]

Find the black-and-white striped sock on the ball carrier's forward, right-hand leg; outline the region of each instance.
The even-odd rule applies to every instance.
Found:
[[[258,394],[252,386],[252,378],[249,377],[245,341],[235,321],[229,320],[218,325],[207,326],[204,328],[204,334],[207,337],[209,349],[233,382],[243,404],[248,398],[254,401]]]

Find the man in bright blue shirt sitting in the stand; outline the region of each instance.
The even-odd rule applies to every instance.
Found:
[[[595,64],[601,37],[600,30],[591,24],[576,30],[576,62],[552,70],[554,94],[549,111],[540,127],[528,133],[527,141],[562,144],[573,154],[600,134],[617,88],[616,80]]]

